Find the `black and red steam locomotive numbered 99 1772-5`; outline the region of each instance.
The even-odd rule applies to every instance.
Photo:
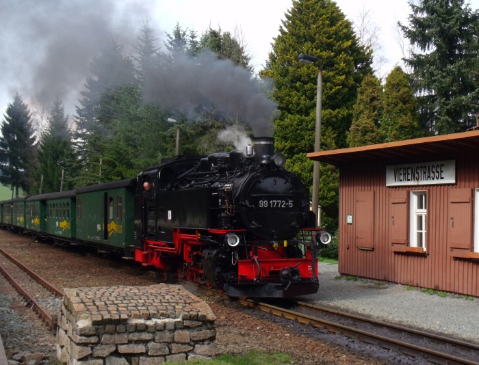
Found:
[[[138,176],[135,260],[233,297],[292,297],[318,290],[318,243],[309,194],[274,153],[246,150],[175,159]],[[145,196],[143,184],[151,191]]]

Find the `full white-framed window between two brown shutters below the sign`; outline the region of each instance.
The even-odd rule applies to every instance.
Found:
[[[409,246],[422,247],[426,250],[428,229],[428,191],[411,191],[409,202]],[[422,204],[424,208],[419,208],[419,204]],[[418,221],[421,222],[422,227],[419,227]]]

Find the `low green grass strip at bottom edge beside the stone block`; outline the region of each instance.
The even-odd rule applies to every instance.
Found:
[[[241,354],[225,354],[211,360],[190,360],[188,365],[286,365],[292,358],[285,353],[249,351]],[[185,362],[170,362],[171,365],[184,365]]]

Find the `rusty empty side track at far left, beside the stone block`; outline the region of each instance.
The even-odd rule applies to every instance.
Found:
[[[0,249],[0,271],[47,325],[56,327],[56,312],[60,308],[62,291],[42,279],[40,275]],[[31,294],[35,293],[35,297]]]

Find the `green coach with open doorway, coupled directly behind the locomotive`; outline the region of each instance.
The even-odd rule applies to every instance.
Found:
[[[99,252],[133,252],[136,178],[77,189],[77,240]]]

